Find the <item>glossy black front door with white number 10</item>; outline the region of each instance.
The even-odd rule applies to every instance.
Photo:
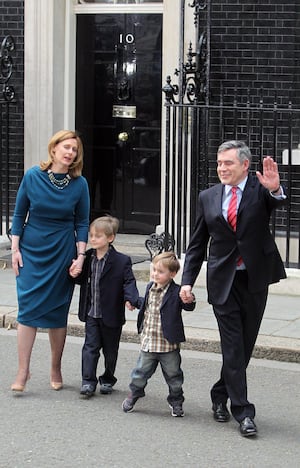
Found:
[[[79,15],[76,128],[92,218],[149,234],[160,219],[160,14]]]

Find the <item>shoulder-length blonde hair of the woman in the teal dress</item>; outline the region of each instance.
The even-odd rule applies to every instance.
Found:
[[[77,141],[77,154],[69,167],[69,174],[71,177],[76,178],[81,175],[82,167],[83,167],[83,145],[81,138],[79,135],[73,130],[59,130],[59,132],[55,133],[49,140],[48,143],[48,160],[41,161],[40,168],[42,171],[46,171],[50,168],[53,163],[53,150],[58,143],[62,141],[68,140],[70,138],[74,138]]]

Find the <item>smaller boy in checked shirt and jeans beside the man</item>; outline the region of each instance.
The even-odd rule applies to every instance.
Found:
[[[131,373],[131,392],[122,403],[125,413],[131,412],[137,400],[145,396],[148,380],[160,363],[169,387],[167,401],[171,414],[184,416],[180,342],[185,341],[185,336],[181,311],[193,310],[195,301],[183,303],[179,297],[180,286],[173,280],[179,268],[179,261],[173,252],[164,252],[153,259],[153,281],[147,285],[138,314],[141,350]]]

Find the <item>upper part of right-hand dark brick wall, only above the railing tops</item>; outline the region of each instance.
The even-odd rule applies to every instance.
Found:
[[[298,5],[297,5],[298,3]],[[211,86],[222,81],[228,98],[233,86],[259,90],[278,104],[299,96],[299,2],[296,0],[213,0],[211,5]]]

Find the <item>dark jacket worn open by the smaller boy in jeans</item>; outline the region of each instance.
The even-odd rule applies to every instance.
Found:
[[[141,333],[143,329],[145,309],[152,284],[153,281],[147,285],[145,298],[138,314],[137,327],[139,333]],[[196,306],[195,302],[184,304],[179,297],[179,291],[180,286],[172,280],[160,307],[162,331],[164,338],[166,338],[169,343],[181,343],[185,341],[181,312],[182,309],[194,310]]]

